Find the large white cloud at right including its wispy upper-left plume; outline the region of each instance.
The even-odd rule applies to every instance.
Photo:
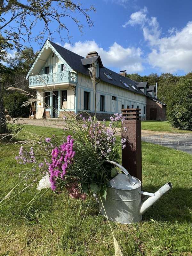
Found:
[[[132,13],[123,27],[140,25],[151,50],[147,56],[149,64],[162,72],[192,71],[192,21],[180,31],[171,28],[167,36],[162,36],[156,17],[148,17],[147,12],[145,7]]]

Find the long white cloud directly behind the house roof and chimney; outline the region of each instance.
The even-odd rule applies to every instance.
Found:
[[[117,70],[126,69],[128,72],[140,72],[144,69],[142,66],[142,52],[140,48],[124,48],[114,42],[108,50],[104,50],[94,40],[79,41],[74,45],[65,43],[64,47],[83,57],[85,57],[88,52],[96,51],[99,53],[103,65],[106,67],[115,68]]]

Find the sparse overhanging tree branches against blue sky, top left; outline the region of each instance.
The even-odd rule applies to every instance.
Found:
[[[67,20],[72,20],[82,32],[84,26],[74,13],[83,16],[91,28],[93,22],[89,16],[90,11],[95,11],[92,5],[84,7],[80,2],[71,0],[26,0],[24,3],[0,0],[0,32],[4,33],[6,43],[12,42],[19,50],[26,41],[42,43],[47,37],[52,40],[54,33],[59,34],[61,40],[66,37],[70,40]],[[53,21],[56,29],[53,29]]]

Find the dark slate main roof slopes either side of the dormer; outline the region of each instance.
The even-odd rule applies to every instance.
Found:
[[[84,66],[82,64],[82,61],[81,61],[82,59],[84,59],[84,57],[76,54],[75,52],[71,52],[71,51],[67,50],[66,48],[64,48],[64,47],[62,47],[58,44],[55,44],[51,41],[49,41],[49,42],[50,42],[50,44],[52,44],[52,46],[55,48],[55,50],[60,54],[60,56],[68,63],[68,65],[73,70],[89,76],[88,67]],[[111,76],[111,78],[113,80],[108,79],[107,76],[104,73],[107,73],[109,76]],[[105,67],[100,68],[100,79],[103,82],[116,85],[116,86],[121,87],[125,90],[129,90],[129,91],[132,91],[134,93],[139,93],[139,94],[145,95],[139,88],[137,88],[137,85],[135,84],[136,81],[133,81],[128,77],[121,76],[118,73],[116,73],[116,72],[114,72],[114,71],[112,71],[108,68],[105,68]],[[129,86],[130,86],[130,84],[132,84],[133,86],[135,86],[138,89],[138,91],[134,90],[134,88],[132,88],[132,86],[130,86],[130,88],[126,87],[121,81],[125,82]]]

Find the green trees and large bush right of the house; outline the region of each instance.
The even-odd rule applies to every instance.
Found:
[[[148,81],[149,85],[157,82],[157,98],[167,105],[167,120],[175,128],[192,130],[192,72],[185,76],[151,73],[127,74],[127,77],[137,82]]]

